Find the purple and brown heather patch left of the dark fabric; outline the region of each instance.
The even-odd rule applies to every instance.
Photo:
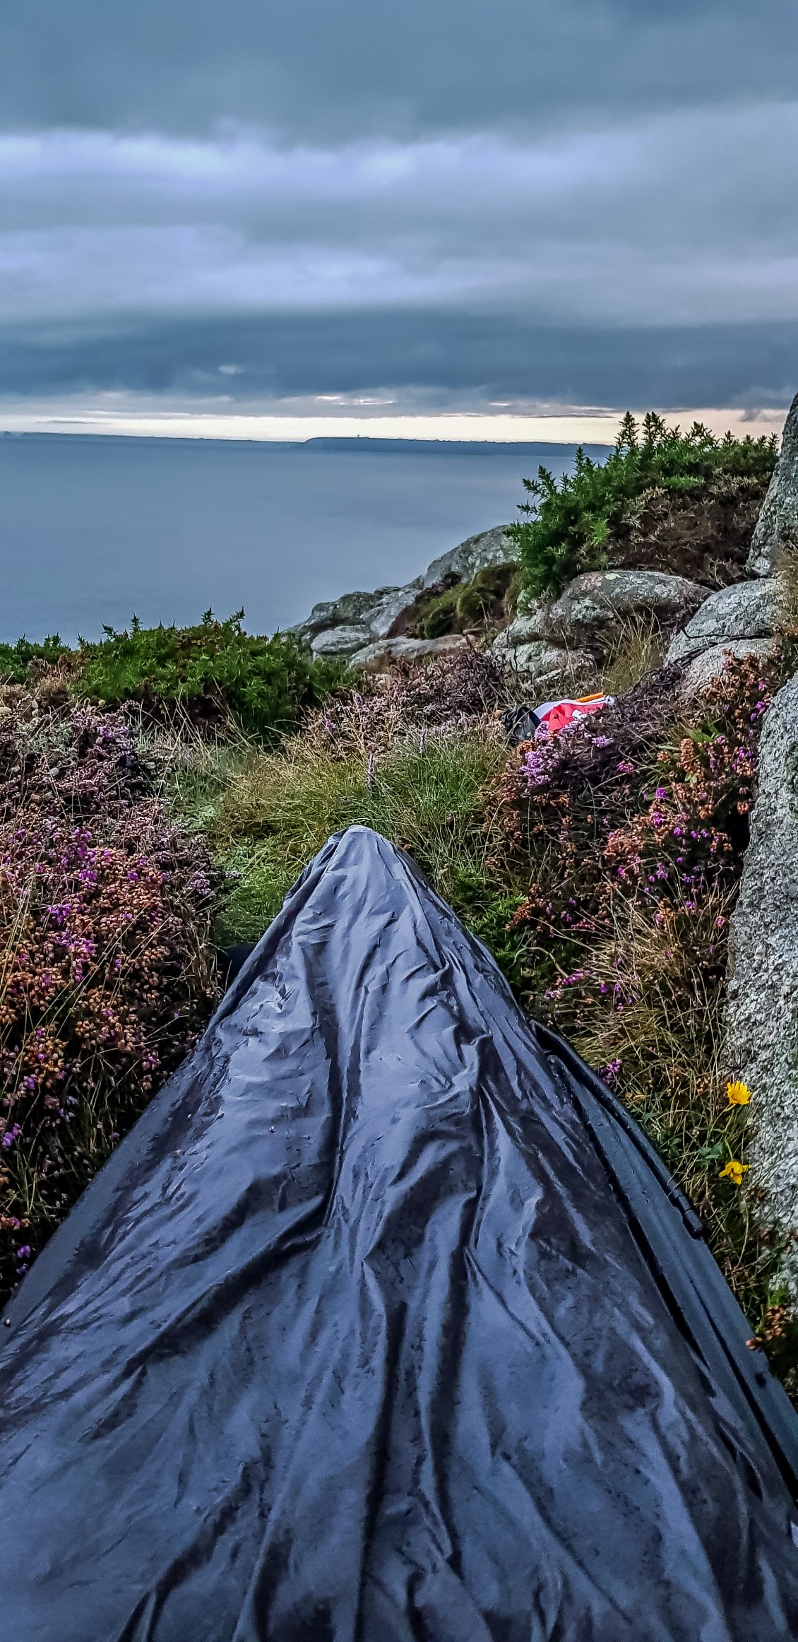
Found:
[[[0,1292],[205,1025],[210,870],[130,719],[3,693]]]

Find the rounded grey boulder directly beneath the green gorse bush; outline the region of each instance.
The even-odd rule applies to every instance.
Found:
[[[696,581],[658,570],[588,570],[552,606],[548,634],[576,647],[588,644],[601,654],[624,617],[683,626],[704,598],[706,588]]]

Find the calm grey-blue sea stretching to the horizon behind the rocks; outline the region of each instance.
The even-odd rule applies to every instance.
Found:
[[[573,445],[0,437],[0,639],[241,606],[251,632],[402,583],[516,517]]]

